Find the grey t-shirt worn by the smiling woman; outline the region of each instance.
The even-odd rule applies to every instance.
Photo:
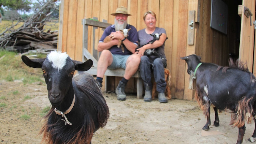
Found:
[[[158,33],[158,34],[162,34],[162,33],[166,34],[166,31],[165,31],[164,28],[156,27],[155,31],[152,34],[156,34],[156,33]],[[153,36],[151,36],[150,34],[147,34],[145,29],[139,30],[138,34],[139,34],[139,44],[140,44],[140,46],[141,45],[145,45],[149,41],[153,40]],[[166,39],[168,39],[168,37],[166,37]],[[166,59],[166,57],[165,57],[165,42],[164,42],[164,44],[162,46],[160,46],[157,49],[157,52],[161,55],[162,58]]]

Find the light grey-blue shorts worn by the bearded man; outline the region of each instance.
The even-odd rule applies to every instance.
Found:
[[[113,62],[108,67],[108,69],[118,69],[118,68],[125,69],[126,61],[129,56],[131,56],[131,55],[114,55],[114,54],[112,54]]]

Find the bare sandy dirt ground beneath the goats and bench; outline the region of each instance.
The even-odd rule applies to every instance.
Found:
[[[40,143],[42,136],[38,133],[43,124],[42,110],[50,106],[47,94],[45,83],[24,85],[21,81],[0,81],[0,143]],[[129,94],[126,101],[118,101],[116,94],[103,95],[110,118],[104,128],[95,132],[93,144],[236,143],[238,128],[229,125],[229,112],[220,113],[220,126],[210,126],[206,132],[202,130],[206,118],[196,102],[179,99],[171,99],[166,104],[157,99],[143,102],[143,99]],[[213,124],[213,109],[211,117]],[[254,123],[246,124],[244,143],[250,143],[247,139],[251,137],[254,126]]]

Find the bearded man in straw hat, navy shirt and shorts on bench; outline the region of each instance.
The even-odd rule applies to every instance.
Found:
[[[134,26],[127,24],[127,18],[131,14],[128,14],[125,7],[118,7],[111,15],[115,16],[115,24],[105,29],[97,48],[101,52],[97,66],[97,81],[102,87],[103,76],[107,69],[125,69],[124,77],[116,88],[117,99],[124,101],[126,100],[125,86],[140,64],[140,56],[135,54],[135,49],[138,47],[138,32]],[[131,28],[127,38],[119,31],[125,28]],[[110,37],[112,40],[103,42],[105,37]],[[118,39],[123,42],[124,52],[117,47]]]

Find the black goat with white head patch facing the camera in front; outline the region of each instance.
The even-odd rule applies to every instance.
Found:
[[[87,73],[92,60],[84,63],[71,60],[66,53],[51,52],[47,58],[21,57],[29,67],[42,68],[52,107],[40,134],[48,144],[89,144],[93,133],[104,127],[109,110],[94,78]]]

